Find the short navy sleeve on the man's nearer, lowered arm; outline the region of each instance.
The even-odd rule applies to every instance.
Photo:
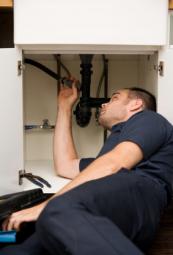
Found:
[[[144,159],[148,159],[160,149],[165,139],[165,119],[155,112],[143,111],[127,121],[120,134],[119,143],[136,143],[141,148]]]

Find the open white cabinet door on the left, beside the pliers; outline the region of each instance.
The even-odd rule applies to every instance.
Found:
[[[17,49],[0,49],[0,195],[19,191],[23,168],[23,93]]]

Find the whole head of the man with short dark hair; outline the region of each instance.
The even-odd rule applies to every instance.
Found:
[[[110,129],[144,109],[156,111],[156,99],[150,92],[136,87],[117,90],[110,101],[102,105],[99,123]]]

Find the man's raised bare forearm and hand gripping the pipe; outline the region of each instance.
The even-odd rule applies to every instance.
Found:
[[[75,82],[70,88],[61,87],[54,133],[53,156],[58,175],[73,179],[79,174],[79,159],[72,136],[72,107],[78,98]]]

